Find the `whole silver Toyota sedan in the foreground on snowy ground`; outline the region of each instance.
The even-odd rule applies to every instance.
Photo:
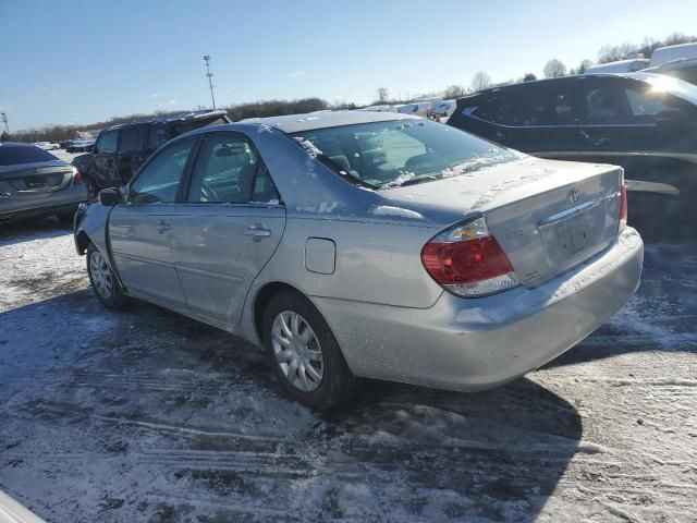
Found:
[[[583,340],[639,283],[625,196],[617,167],[323,112],[169,142],[78,211],[75,243],[105,305],[242,336],[323,409],[357,377],[496,387]]]

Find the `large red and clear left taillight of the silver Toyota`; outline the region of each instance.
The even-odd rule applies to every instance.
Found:
[[[435,236],[424,245],[421,263],[437,283],[458,296],[486,296],[519,283],[484,217]]]

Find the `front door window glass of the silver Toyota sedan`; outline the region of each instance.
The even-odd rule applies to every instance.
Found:
[[[129,187],[131,204],[176,202],[176,193],[196,138],[183,139],[157,155]]]

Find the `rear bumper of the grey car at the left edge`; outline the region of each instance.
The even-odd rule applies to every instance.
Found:
[[[66,207],[77,207],[87,199],[87,184],[70,185],[53,193],[39,193],[22,196],[0,195],[0,221],[19,217],[49,215]]]

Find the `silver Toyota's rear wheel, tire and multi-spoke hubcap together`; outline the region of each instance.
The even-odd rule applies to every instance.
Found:
[[[281,292],[264,312],[264,344],[283,389],[321,411],[348,399],[356,378],[319,311],[303,295]]]

